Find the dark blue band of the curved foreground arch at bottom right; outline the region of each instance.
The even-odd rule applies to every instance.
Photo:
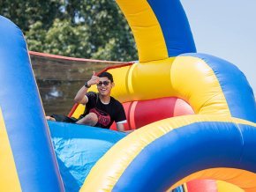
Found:
[[[185,176],[213,167],[256,173],[255,131],[229,122],[197,122],[174,129],[139,153],[113,191],[165,191]]]

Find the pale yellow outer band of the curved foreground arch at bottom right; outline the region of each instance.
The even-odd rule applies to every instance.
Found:
[[[143,150],[147,144],[150,144],[155,139],[169,133],[172,129],[177,129],[193,122],[235,122],[256,126],[255,123],[247,123],[246,121],[240,121],[239,119],[231,117],[200,114],[186,115],[185,117],[178,116],[151,123],[145,127],[135,130],[107,151],[102,159],[100,159],[92,168],[80,191],[101,191],[102,188],[104,188],[105,191],[111,191],[120,176],[124,173],[126,167],[130,165],[132,160],[137,157],[139,152]],[[219,179],[222,174],[217,176],[218,177],[216,179]],[[97,178],[97,180],[94,178]],[[192,177],[192,179],[197,179],[197,177]],[[182,180],[175,186],[177,187],[178,185],[186,181],[191,181],[192,179],[185,181]]]

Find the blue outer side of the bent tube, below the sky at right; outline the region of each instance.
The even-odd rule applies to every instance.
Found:
[[[256,103],[245,75],[236,65],[207,54],[184,54],[202,59],[215,72],[233,117],[256,122]],[[182,56],[184,56],[182,55]]]

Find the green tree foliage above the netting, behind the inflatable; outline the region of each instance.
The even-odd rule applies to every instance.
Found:
[[[113,0],[0,0],[0,14],[25,33],[30,50],[114,61],[137,60],[122,12]]]

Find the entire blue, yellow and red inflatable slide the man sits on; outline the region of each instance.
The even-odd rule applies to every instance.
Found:
[[[245,75],[196,53],[178,0],[117,4],[139,51],[139,62],[106,69],[129,135],[46,122],[23,34],[0,17],[1,191],[256,191]]]

